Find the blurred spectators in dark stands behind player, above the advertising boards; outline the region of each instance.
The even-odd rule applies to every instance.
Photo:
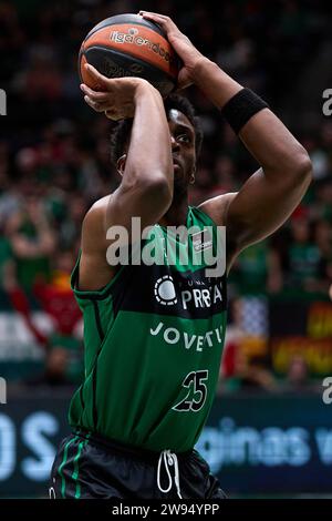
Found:
[[[54,347],[48,350],[54,381],[64,379],[79,319],[69,277],[82,219],[120,181],[110,163],[112,122],[83,102],[77,53],[95,23],[141,9],[173,17],[204,53],[262,95],[313,162],[314,181],[282,229],[237,260],[231,297],[326,296],[332,282],[332,122],[321,115],[313,121],[305,106],[295,118],[287,112],[330,38],[323,2],[226,0],[210,10],[194,0],[0,1],[0,86],[8,93],[8,115],[0,122],[0,294],[41,346]],[[237,191],[258,165],[216,108],[195,88],[187,95],[205,131],[190,193],[196,205]],[[52,340],[30,319],[31,298],[55,320]]]

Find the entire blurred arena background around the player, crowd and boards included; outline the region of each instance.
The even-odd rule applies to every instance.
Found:
[[[332,497],[329,2],[11,0],[0,1],[0,498],[46,497],[83,370],[69,275],[86,210],[118,183],[112,122],[83,101],[77,52],[96,22],[139,9],[170,16],[259,93],[314,168],[291,218],[232,269],[218,394],[198,449],[230,497]],[[187,93],[205,130],[198,204],[237,191],[257,164],[218,110]]]

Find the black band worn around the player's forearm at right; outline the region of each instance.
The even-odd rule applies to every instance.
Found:
[[[221,109],[221,114],[236,134],[257,112],[269,105],[250,89],[237,92]]]

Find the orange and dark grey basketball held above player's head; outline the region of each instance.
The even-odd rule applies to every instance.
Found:
[[[83,83],[98,90],[84,64],[106,78],[139,76],[166,98],[175,88],[179,60],[165,32],[138,14],[106,18],[86,35],[80,50],[79,71]]]

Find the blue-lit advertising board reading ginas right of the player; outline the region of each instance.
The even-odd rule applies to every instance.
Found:
[[[218,398],[197,448],[230,494],[332,493],[332,415],[319,394]]]

